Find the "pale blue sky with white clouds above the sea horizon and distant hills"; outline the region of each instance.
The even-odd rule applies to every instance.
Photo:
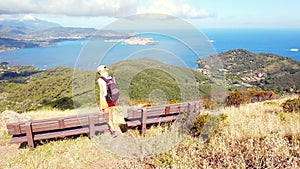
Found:
[[[127,16],[157,13],[197,28],[300,28],[299,0],[0,0],[0,20],[41,19],[101,29]]]

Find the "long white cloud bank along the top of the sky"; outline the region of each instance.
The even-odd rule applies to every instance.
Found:
[[[28,13],[108,17],[144,13],[167,14],[182,18],[210,16],[207,11],[181,0],[1,0],[0,15]]]

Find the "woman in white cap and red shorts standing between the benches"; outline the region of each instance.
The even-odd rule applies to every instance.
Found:
[[[108,125],[110,128],[110,132],[112,137],[117,137],[117,132],[114,128],[113,125],[113,106],[115,106],[115,102],[108,102],[106,100],[107,96],[107,83],[104,81],[103,78],[105,79],[112,79],[111,76],[108,74],[108,68],[105,65],[100,65],[97,68],[97,72],[100,74],[100,78],[97,80],[98,85],[99,85],[99,98],[100,98],[100,103],[99,103],[99,109],[102,112],[108,112]]]

